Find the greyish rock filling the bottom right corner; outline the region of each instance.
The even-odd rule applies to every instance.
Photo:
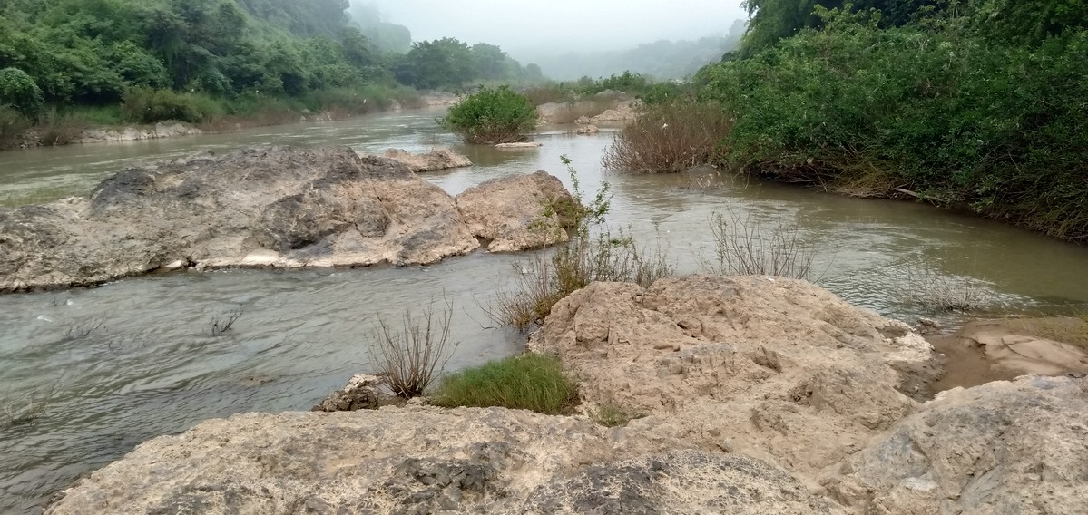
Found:
[[[1088,379],[1027,376],[938,394],[829,479],[858,513],[1088,513]]]

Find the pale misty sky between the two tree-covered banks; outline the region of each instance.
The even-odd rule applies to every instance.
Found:
[[[413,40],[455,37],[511,54],[620,50],[658,39],[725,35],[746,17],[740,0],[351,0],[376,3]]]

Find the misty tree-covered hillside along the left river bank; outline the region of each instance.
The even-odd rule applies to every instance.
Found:
[[[347,0],[0,1],[0,138],[30,122],[369,110],[410,88],[539,76],[498,47],[411,43]],[[77,116],[77,117],[78,117]]]

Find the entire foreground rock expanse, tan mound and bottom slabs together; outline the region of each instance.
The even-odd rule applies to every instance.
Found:
[[[803,281],[593,284],[531,347],[583,415],[382,407],[247,414],[139,445],[49,515],[109,513],[1083,514],[1088,379],[919,403],[931,349]]]

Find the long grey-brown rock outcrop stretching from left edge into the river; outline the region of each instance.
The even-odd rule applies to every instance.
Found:
[[[202,153],[126,169],[89,198],[0,208],[0,292],[193,266],[434,263],[497,230],[470,228],[466,217],[516,228],[543,216],[544,205],[521,203],[504,215],[486,213],[487,203],[458,209],[406,165],[346,147]]]

